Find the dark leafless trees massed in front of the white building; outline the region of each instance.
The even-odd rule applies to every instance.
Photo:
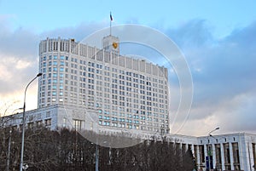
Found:
[[[9,128],[0,129],[0,170],[5,170],[10,152],[9,170],[17,170],[20,164],[19,130],[9,134]],[[96,136],[88,131],[86,134]],[[9,137],[11,146],[9,148]],[[102,137],[106,139],[106,137]],[[145,140],[126,148],[110,148],[98,145],[99,170],[104,171],[183,171],[193,170],[195,163],[191,151],[183,151],[179,145],[166,139]],[[27,170],[95,170],[96,144],[84,139],[75,130],[47,128],[26,130],[24,163]]]

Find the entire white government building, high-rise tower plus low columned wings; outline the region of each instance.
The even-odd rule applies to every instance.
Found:
[[[212,170],[255,170],[255,134],[171,134],[167,69],[120,55],[118,37],[104,37],[102,46],[74,39],[41,41],[38,109],[26,111],[28,127],[97,128],[100,134],[128,130],[142,139],[165,134],[184,151],[193,152],[198,170],[209,165]],[[22,113],[1,121],[20,128],[19,117]]]

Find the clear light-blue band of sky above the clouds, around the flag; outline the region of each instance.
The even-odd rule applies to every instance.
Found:
[[[236,27],[247,26],[256,18],[255,1],[0,1],[3,17],[14,29],[37,33],[81,23],[105,21],[112,11],[117,24],[177,27],[188,20],[207,20],[214,34],[225,36]],[[108,25],[106,25],[108,26]]]

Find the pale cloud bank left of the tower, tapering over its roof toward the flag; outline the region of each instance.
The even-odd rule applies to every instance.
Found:
[[[38,73],[38,44],[46,37],[75,38],[80,41],[90,33],[108,26],[104,22],[82,23],[40,34],[24,28],[13,29],[9,16],[0,15],[0,114],[14,101],[22,103],[26,84]],[[37,107],[37,82],[27,92],[27,109]],[[20,104],[15,103],[17,108]],[[15,106],[11,107],[15,108]],[[9,110],[12,112],[12,110]]]

